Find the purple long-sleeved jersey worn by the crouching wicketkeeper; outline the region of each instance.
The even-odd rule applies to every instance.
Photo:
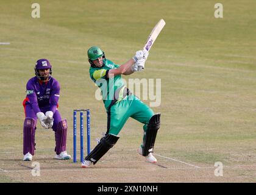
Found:
[[[45,108],[55,113],[60,96],[60,85],[53,77],[48,82],[41,82],[37,77],[32,77],[27,82],[26,94],[24,107],[30,104],[35,113],[42,112],[41,109]]]

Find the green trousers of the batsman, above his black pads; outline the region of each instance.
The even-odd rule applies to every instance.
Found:
[[[108,127],[107,133],[118,135],[129,117],[142,122],[143,130],[146,132],[149,119],[154,115],[154,112],[148,105],[140,101],[136,96],[131,94],[126,96],[119,102],[116,102],[108,112]]]

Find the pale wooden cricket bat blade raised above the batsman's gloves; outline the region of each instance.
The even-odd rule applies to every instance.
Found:
[[[157,39],[157,36],[160,34],[164,26],[165,26],[165,21],[163,19],[160,19],[160,21],[158,21],[154,29],[151,31],[151,34],[149,34],[148,40],[146,41],[146,44],[143,49],[146,49],[146,51],[149,51],[151,49],[152,45]]]

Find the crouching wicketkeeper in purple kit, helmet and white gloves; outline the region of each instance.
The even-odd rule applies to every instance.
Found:
[[[35,77],[27,82],[26,99],[23,101],[25,121],[23,126],[23,154],[25,161],[31,161],[35,154],[35,130],[37,119],[44,129],[55,132],[55,158],[68,160],[66,134],[68,124],[58,110],[60,96],[59,82],[52,77],[52,66],[47,59],[37,60]]]

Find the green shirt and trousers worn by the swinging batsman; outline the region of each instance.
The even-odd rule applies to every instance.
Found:
[[[154,112],[133,94],[124,96],[126,86],[121,75],[112,78],[107,77],[108,71],[118,68],[119,65],[107,59],[104,59],[103,63],[102,67],[90,68],[90,77],[101,88],[103,102],[108,113],[107,133],[118,135],[130,117],[142,122],[144,124],[143,130],[146,131],[148,121]]]

